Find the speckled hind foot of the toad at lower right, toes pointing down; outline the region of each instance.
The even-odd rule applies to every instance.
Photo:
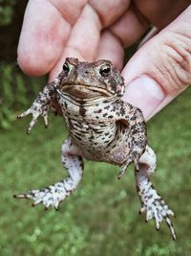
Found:
[[[175,216],[174,212],[169,209],[165,201],[159,196],[157,191],[153,188],[151,182],[145,184],[144,188],[138,190],[138,195],[141,201],[140,214],[145,213],[146,221],[155,219],[156,228],[159,230],[161,221],[166,221],[172,237],[176,240],[176,233],[170,216]]]

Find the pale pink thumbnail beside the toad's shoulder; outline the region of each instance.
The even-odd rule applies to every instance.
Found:
[[[138,106],[147,120],[164,98],[165,94],[159,83],[142,76],[127,85],[122,100]]]

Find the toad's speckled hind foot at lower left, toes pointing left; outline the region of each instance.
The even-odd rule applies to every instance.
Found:
[[[32,190],[26,194],[14,195],[14,198],[33,199],[32,206],[42,203],[45,209],[53,207],[57,210],[60,202],[69,197],[74,191],[73,184],[68,181],[69,179],[65,179],[41,190]]]

